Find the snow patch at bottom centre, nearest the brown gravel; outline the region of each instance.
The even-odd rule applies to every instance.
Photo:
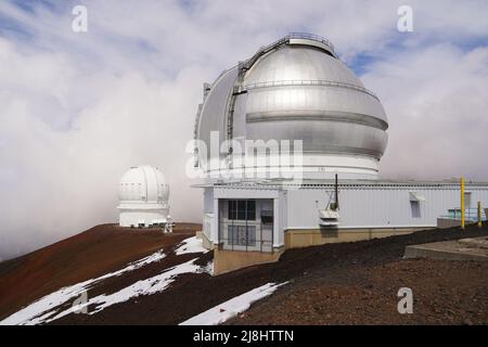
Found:
[[[206,310],[179,325],[217,325],[221,324],[228,319],[237,316],[247,310],[251,305],[274,293],[278,287],[286,284],[268,283],[247,293],[236,296],[226,303],[217,305],[216,307]]]

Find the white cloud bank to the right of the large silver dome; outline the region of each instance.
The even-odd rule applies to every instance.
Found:
[[[382,95],[389,117],[383,177],[487,180],[488,46],[391,54],[363,80]]]

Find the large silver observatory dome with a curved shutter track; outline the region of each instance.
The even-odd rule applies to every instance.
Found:
[[[377,97],[337,57],[326,39],[290,34],[204,85],[195,139],[201,167],[226,158],[226,140],[301,140],[304,178],[376,179],[388,123]],[[210,154],[211,153],[211,154]],[[206,163],[206,165],[202,165]],[[241,169],[245,170],[245,165]],[[217,170],[218,171],[218,170]]]

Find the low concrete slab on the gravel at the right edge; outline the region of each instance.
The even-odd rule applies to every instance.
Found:
[[[461,239],[407,246],[404,258],[488,261],[488,237]]]

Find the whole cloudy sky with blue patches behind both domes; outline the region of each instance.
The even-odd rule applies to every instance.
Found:
[[[72,9],[88,9],[74,33]],[[413,10],[413,33],[397,10]],[[178,187],[202,83],[290,31],[333,41],[385,106],[385,178],[488,180],[487,1],[1,1],[0,258],[116,220],[127,167]],[[76,213],[74,213],[76,211]]]

